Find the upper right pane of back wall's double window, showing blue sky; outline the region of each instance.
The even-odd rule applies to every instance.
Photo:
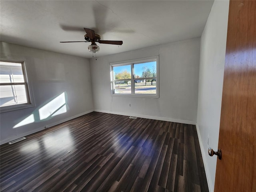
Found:
[[[134,64],[134,78],[156,77],[156,61]]]

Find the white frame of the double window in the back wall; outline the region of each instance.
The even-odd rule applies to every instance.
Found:
[[[135,94],[135,86],[134,86],[134,80],[136,79],[152,79],[150,78],[134,78],[134,64],[140,64],[140,63],[146,63],[146,62],[152,62],[156,61],[156,94]],[[131,94],[118,94],[114,93],[114,73],[113,73],[113,67],[116,66],[124,66],[124,65],[130,65],[131,66],[131,79],[125,79],[126,81],[131,81]],[[146,57],[146,58],[138,58],[138,59],[132,59],[132,60],[125,60],[125,61],[118,61],[118,62],[111,62],[110,63],[110,80],[111,80],[111,90],[110,94],[111,96],[118,96],[118,97],[144,97],[144,98],[159,98],[159,56],[152,56],[152,57]],[[122,81],[122,79],[118,79]]]

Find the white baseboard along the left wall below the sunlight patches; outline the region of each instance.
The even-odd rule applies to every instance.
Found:
[[[47,128],[50,128],[50,127],[52,127],[52,126],[55,126],[55,125],[64,123],[64,122],[66,122],[66,121],[72,120],[72,119],[74,119],[74,118],[80,117],[80,116],[82,116],[82,115],[88,114],[88,113],[93,112],[93,111],[94,111],[94,110],[89,110],[89,111],[80,113],[80,114],[78,114],[78,115],[75,115],[75,116],[72,116],[72,117],[69,117],[69,118],[60,120],[60,121],[58,121],[58,122],[54,122],[54,123],[49,124],[49,125],[46,125],[46,127],[47,127]],[[7,138],[7,139],[5,139],[5,140],[1,140],[1,141],[0,141],[0,145],[5,144],[5,143],[8,143],[8,142],[13,141],[13,140],[16,140],[16,139],[19,139],[19,138],[22,138],[22,137],[25,137],[25,136],[28,136],[28,135],[33,134],[33,133],[36,133],[36,132],[38,132],[38,131],[42,131],[42,130],[44,130],[44,129],[45,129],[45,127],[43,126],[43,127],[37,128],[37,129],[35,129],[35,130],[32,130],[32,131],[29,131],[29,132],[25,132],[25,133],[19,134],[19,135],[17,135],[17,136],[12,137],[12,138]]]

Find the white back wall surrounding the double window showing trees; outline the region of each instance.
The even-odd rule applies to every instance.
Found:
[[[110,62],[156,55],[159,55],[159,98],[110,95]],[[92,58],[94,110],[195,124],[199,61],[200,38],[104,56],[97,60]]]

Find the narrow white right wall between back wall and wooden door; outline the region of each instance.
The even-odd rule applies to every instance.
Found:
[[[197,131],[210,192],[214,190],[224,75],[229,1],[214,1],[201,36]],[[209,136],[209,146],[207,144]]]

